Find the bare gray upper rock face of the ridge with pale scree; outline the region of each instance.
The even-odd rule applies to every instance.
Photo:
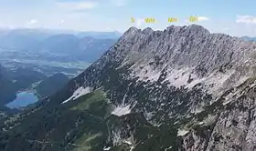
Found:
[[[238,85],[255,73],[254,64],[248,65],[254,60],[255,44],[210,34],[200,25],[169,26],[165,31],[131,27],[117,44],[121,46],[113,52],[115,57],[122,57],[123,65],[134,64],[133,75],[157,80],[167,68],[166,77],[174,86],[188,86],[190,76],[193,79],[188,87],[201,82],[212,93],[219,93],[219,89]],[[182,75],[173,77],[176,72]]]

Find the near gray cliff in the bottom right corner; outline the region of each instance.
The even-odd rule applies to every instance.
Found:
[[[183,137],[180,150],[243,150],[254,151],[255,139],[255,79],[226,92],[209,125],[201,122]],[[220,100],[219,100],[220,101]],[[224,103],[223,103],[224,102]]]

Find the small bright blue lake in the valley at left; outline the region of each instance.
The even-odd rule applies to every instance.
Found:
[[[25,107],[38,101],[37,96],[32,92],[21,92],[16,95],[16,99],[13,102],[8,103],[9,108]]]

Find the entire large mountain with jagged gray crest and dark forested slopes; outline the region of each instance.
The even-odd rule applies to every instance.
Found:
[[[131,27],[58,93],[1,120],[3,151],[252,151],[256,44]]]

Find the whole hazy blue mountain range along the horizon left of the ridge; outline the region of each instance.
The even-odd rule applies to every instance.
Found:
[[[0,30],[0,49],[49,55],[68,55],[93,62],[120,37],[118,32],[71,32],[39,29]]]

